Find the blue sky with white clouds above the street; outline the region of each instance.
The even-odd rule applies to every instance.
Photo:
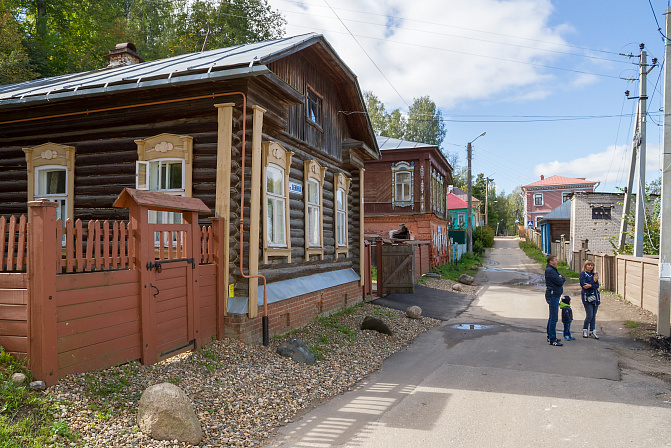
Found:
[[[646,178],[660,175],[662,128],[655,122],[661,125],[664,43],[653,10],[664,31],[667,1],[269,4],[287,19],[288,36],[324,34],[362,90],[388,111],[407,112],[413,98],[429,95],[446,120],[443,147],[458,153],[460,165],[466,143],[486,131],[473,144],[473,173],[506,193],[541,174],[585,177],[605,192],[626,184],[636,100],[624,91],[638,96],[644,43],[648,61],[660,63],[648,76]]]

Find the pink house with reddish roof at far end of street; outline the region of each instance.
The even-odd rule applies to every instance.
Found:
[[[599,182],[584,177],[550,176],[541,174],[541,180],[522,187],[524,193],[524,225],[536,227],[538,219],[550,213],[577,191],[593,193]]]

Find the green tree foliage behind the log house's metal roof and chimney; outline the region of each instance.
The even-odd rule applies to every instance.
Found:
[[[0,6],[0,73],[14,73],[0,79],[4,84],[102,68],[119,42],[133,42],[140,56],[154,60],[200,51],[208,28],[212,49],[280,38],[286,23],[267,0],[0,0]]]

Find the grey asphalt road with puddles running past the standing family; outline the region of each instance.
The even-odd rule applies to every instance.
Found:
[[[465,310],[444,311],[456,317],[282,428],[271,446],[670,447],[671,404],[658,398],[669,387],[618,368],[614,348],[631,342],[583,339],[574,306],[578,339],[549,346],[541,270],[512,238],[488,252]]]

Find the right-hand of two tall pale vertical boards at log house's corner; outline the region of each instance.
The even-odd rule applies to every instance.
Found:
[[[259,221],[261,215],[261,138],[263,136],[263,114],[265,109],[252,106],[252,180],[249,204],[249,275],[259,274]],[[244,186],[243,186],[244,190]],[[244,191],[242,192],[244,195]],[[259,314],[259,279],[249,279],[249,305],[248,316],[250,319]]]

